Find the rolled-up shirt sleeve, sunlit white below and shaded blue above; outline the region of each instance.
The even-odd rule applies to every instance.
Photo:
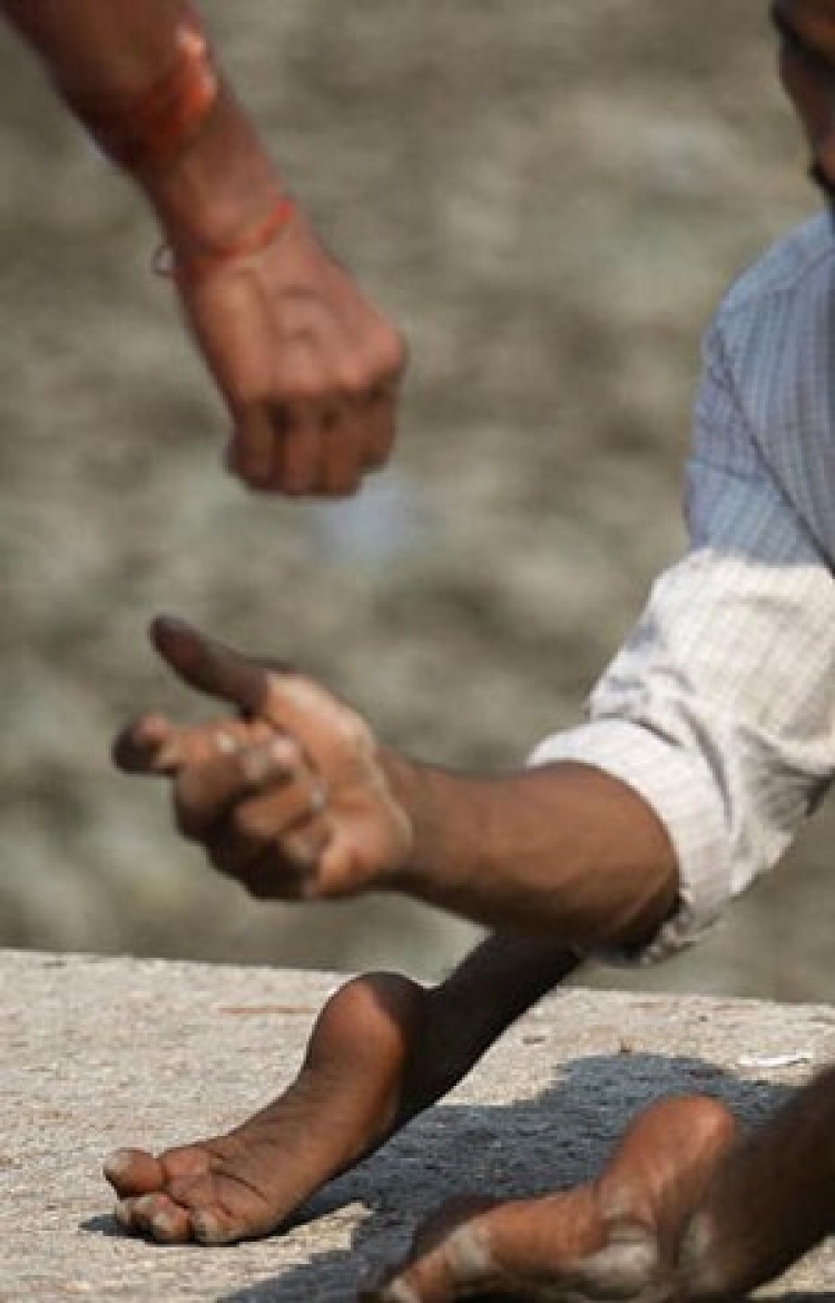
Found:
[[[642,962],[709,928],[783,853],[835,774],[835,580],[745,426],[718,332],[688,524],[688,555],[654,585],[586,723],[530,760],[606,770],[664,823],[679,908]]]

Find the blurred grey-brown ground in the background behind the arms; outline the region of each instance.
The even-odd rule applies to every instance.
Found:
[[[765,0],[211,0],[323,237],[409,337],[391,469],[248,496],[130,185],[0,33],[0,942],[444,971],[477,936],[383,899],[263,906],[109,740],[186,714],[149,618],[297,661],[380,735],[513,766],[573,723],[683,546],[700,334],[817,198]],[[832,812],[698,951],[607,985],[831,998]]]

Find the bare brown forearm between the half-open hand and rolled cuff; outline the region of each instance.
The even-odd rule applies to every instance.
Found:
[[[475,779],[392,754],[383,764],[413,830],[393,890],[580,950],[640,945],[672,911],[664,827],[601,770],[556,764]]]

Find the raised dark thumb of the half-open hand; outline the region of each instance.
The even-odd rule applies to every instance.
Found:
[[[270,675],[254,661],[173,615],[159,615],[152,622],[151,638],[162,658],[190,688],[251,714],[262,711]]]

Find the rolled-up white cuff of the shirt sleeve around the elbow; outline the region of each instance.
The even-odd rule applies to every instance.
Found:
[[[572,761],[625,783],[664,825],[679,865],[675,913],[638,951],[601,958],[651,964],[700,941],[731,898],[731,855],[722,796],[698,753],[624,719],[595,719],[545,737],[533,766]]]

